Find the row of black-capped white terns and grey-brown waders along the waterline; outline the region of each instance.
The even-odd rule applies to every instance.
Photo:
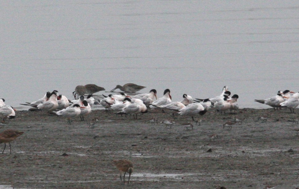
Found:
[[[178,112],[178,115],[190,116],[194,120],[196,115],[204,115],[210,108],[215,108],[217,111],[225,113],[225,111],[235,111],[239,109],[237,99],[239,96],[234,94],[230,97],[231,92],[228,91],[228,87],[224,86],[222,93],[219,96],[209,99],[193,99],[190,95],[183,94],[183,100],[172,102],[170,90],[164,90],[163,96],[157,98],[157,90],[152,89],[149,93],[136,94],[128,96],[126,92],[136,92],[145,88],[145,86],[139,86],[133,83],[127,83],[123,86],[117,85],[111,91],[120,89],[124,92],[120,94],[109,94],[102,97],[102,99],[95,100],[92,96],[101,90],[105,90],[103,87],[99,87],[94,84],[79,85],[76,86],[73,95],[75,100],[69,100],[64,95],[58,95],[57,90],[47,92],[43,98],[35,102],[26,102],[22,105],[31,106],[29,109],[49,111],[51,114],[59,115],[68,119],[68,123],[71,124],[72,118],[80,116],[81,120],[84,120],[84,115],[88,115],[94,104],[100,104],[102,107],[112,109],[116,114],[133,115],[137,119],[138,114],[148,112],[148,108],[155,109],[160,108],[169,109]],[[84,94],[89,94],[86,98]],[[293,94],[293,95],[292,95]],[[80,96],[76,99],[76,96]],[[265,99],[255,100],[258,103],[263,103],[271,106],[275,109],[280,107],[286,107],[294,112],[294,108],[299,105],[299,92],[294,93],[290,90],[278,91],[276,96]],[[5,105],[5,100],[0,99],[0,119],[12,119],[15,117],[15,110],[8,105]]]

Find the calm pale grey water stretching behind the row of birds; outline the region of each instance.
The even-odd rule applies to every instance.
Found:
[[[241,108],[299,91],[299,2],[1,1],[0,98],[19,103],[77,85],[133,82],[173,101],[215,97]],[[98,94],[109,94],[100,92]]]

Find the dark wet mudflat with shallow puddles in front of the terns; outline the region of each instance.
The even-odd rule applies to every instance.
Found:
[[[297,110],[297,109],[296,109]],[[295,112],[296,112],[295,110]],[[258,119],[259,117],[267,119]],[[89,127],[93,118],[99,122]],[[152,117],[158,125],[151,123]],[[243,119],[230,127],[225,122]],[[294,119],[295,118],[295,119]],[[0,184],[14,188],[296,188],[298,114],[287,109],[215,110],[190,117],[160,109],[133,116],[93,110],[85,121],[17,111],[0,131],[23,131],[0,154]],[[165,125],[163,120],[174,121]],[[194,125],[186,127],[189,123]],[[213,137],[210,138],[210,136]],[[3,146],[2,146],[3,145]],[[1,144],[1,151],[4,144]],[[114,159],[134,170],[121,185]],[[123,176],[123,174],[122,174]],[[128,180],[126,174],[125,184]]]

